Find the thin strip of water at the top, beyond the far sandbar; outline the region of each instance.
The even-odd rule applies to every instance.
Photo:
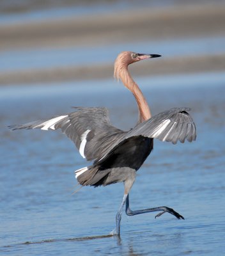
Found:
[[[202,0],[192,0],[188,4],[201,4]],[[222,0],[214,0],[213,3],[222,3]],[[102,13],[118,12],[124,10],[136,10],[137,8],[165,8],[185,5],[187,1],[177,0],[116,0],[116,1],[45,1],[45,3],[34,3],[31,1],[3,0],[0,2],[0,26],[1,24],[13,24],[24,22],[36,22],[40,20],[64,19],[65,17],[79,17],[82,15],[101,15]],[[187,5],[188,5],[187,4]],[[204,0],[204,4],[212,4],[210,0]],[[9,12],[12,11],[12,13]],[[9,15],[10,13],[10,15]]]

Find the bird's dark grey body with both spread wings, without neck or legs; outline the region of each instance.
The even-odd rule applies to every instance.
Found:
[[[187,113],[188,108],[164,111],[146,122],[137,124],[128,132],[110,124],[108,111],[105,108],[75,109],[77,111],[61,115],[61,119],[60,116],[54,116],[28,124],[12,125],[10,129],[61,129],[74,141],[78,149],[81,147],[82,134],[89,131],[85,138],[84,156],[87,160],[95,161],[88,166],[87,172],[77,177],[82,186],[106,186],[124,182],[126,169],[139,170],[151,153],[153,138],[171,141],[174,144],[178,140],[183,143],[185,139],[188,141],[196,139],[196,128]],[[48,127],[47,124],[50,126]]]

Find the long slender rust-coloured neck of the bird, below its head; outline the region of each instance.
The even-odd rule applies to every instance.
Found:
[[[128,90],[130,90],[130,92],[133,93],[136,99],[137,107],[139,110],[138,122],[142,123],[145,120],[148,120],[149,118],[151,118],[151,111],[148,106],[148,103],[146,102],[146,99],[144,98],[144,95],[141,92],[139,86],[135,83],[135,81],[130,76],[127,66],[120,69],[119,76],[123,84],[128,88]]]

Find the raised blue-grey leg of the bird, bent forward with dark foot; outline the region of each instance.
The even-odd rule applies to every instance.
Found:
[[[130,210],[130,207],[129,207],[129,196],[127,195],[127,199],[126,199],[126,214],[128,216],[133,216],[133,215],[142,214],[142,213],[146,213],[146,212],[158,212],[158,211],[162,211],[162,212],[157,214],[155,216],[155,218],[161,216],[165,212],[169,212],[170,214],[173,214],[176,218],[184,220],[182,215],[180,215],[178,212],[175,212],[173,209],[171,209],[169,207],[166,207],[166,206],[160,206],[160,207],[155,207],[155,208],[150,208],[150,209],[143,209],[143,210],[132,211],[132,210]]]

